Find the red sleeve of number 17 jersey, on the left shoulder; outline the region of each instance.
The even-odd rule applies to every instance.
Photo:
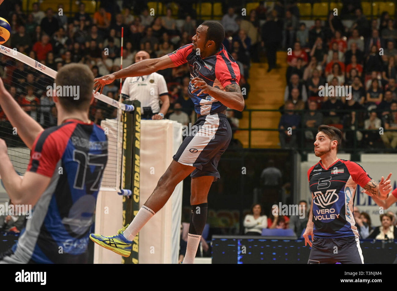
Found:
[[[52,128],[51,128],[52,129]],[[54,133],[50,128],[43,131],[36,138],[30,155],[28,171],[47,177],[52,177],[56,164],[61,158],[60,141],[54,139]],[[56,129],[56,128],[54,128]],[[67,142],[67,141],[66,141]]]

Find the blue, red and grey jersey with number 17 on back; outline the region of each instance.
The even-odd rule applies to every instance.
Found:
[[[96,124],[69,119],[39,134],[27,170],[51,181],[12,248],[12,262],[87,263],[107,159],[108,140]]]

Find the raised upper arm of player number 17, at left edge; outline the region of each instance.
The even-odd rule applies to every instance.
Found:
[[[33,142],[44,129],[40,124],[31,118],[10,93],[4,87],[0,78],[0,107],[13,127],[17,128],[17,133],[29,149],[32,149]]]

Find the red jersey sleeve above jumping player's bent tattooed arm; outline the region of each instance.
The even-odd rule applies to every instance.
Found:
[[[228,54],[216,56],[215,77],[219,80],[222,87],[230,84],[239,84],[240,69],[235,61],[230,61]]]

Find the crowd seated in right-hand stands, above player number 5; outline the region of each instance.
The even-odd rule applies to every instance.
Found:
[[[318,126],[328,124],[342,130],[341,149],[396,149],[397,23],[387,12],[371,20],[359,7],[354,13],[351,26],[330,11],[326,21],[306,27],[299,11],[285,11],[282,45],[291,50],[280,108],[282,148],[312,148]]]

